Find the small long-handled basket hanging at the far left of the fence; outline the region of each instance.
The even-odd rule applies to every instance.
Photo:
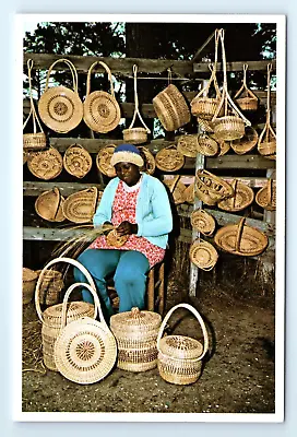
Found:
[[[32,96],[32,69],[33,69],[33,60],[27,60],[27,69],[28,69],[28,86],[29,86],[29,114],[23,125],[23,130],[27,126],[27,122],[32,116],[33,119],[33,133],[23,133],[23,150],[33,151],[33,150],[43,150],[47,145],[46,134],[37,116],[33,96]],[[37,125],[39,126],[40,132],[37,132]]]

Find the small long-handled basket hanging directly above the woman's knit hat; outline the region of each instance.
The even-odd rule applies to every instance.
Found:
[[[134,75],[134,114],[133,114],[133,118],[132,121],[129,126],[128,129],[123,129],[122,131],[122,135],[123,135],[123,140],[131,143],[131,144],[142,144],[145,143],[147,141],[147,134],[151,133],[151,130],[147,128],[147,126],[145,125],[145,122],[143,121],[143,118],[140,114],[139,110],[139,96],[138,96],[138,79],[136,79],[136,74],[138,74],[138,66],[134,64],[133,66],[133,75]],[[141,127],[133,127],[136,116],[139,116],[139,119],[142,123],[142,128]]]

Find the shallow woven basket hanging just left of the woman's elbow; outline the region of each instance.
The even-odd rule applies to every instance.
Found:
[[[92,222],[97,205],[97,188],[91,187],[70,194],[63,203],[63,214],[74,223]]]

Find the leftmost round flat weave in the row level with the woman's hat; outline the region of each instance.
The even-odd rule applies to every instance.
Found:
[[[46,151],[33,152],[27,160],[29,172],[39,179],[54,179],[60,175],[63,168],[63,158],[55,147]]]

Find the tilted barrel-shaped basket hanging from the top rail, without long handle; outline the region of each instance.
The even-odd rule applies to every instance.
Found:
[[[173,84],[153,98],[153,106],[162,126],[169,132],[187,125],[191,119],[183,95]]]

